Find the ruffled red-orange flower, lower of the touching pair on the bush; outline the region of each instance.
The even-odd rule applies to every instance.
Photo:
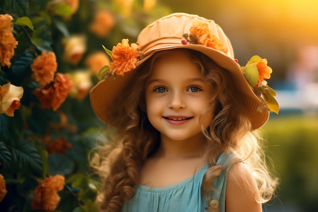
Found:
[[[65,101],[72,86],[73,81],[70,76],[57,73],[53,82],[36,88],[34,93],[43,108],[52,108],[55,111]]]

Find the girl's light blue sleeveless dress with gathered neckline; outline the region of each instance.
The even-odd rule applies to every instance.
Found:
[[[216,164],[224,165],[231,159],[231,154],[222,153]],[[233,165],[217,177],[211,192],[212,201],[218,201],[219,211],[225,211],[225,192],[228,172]],[[201,195],[201,184],[208,166],[205,165],[193,177],[178,184],[163,187],[150,188],[144,185],[136,187],[135,196],[124,203],[123,212],[205,212],[207,203]]]

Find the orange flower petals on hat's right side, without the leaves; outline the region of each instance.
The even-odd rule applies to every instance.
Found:
[[[272,69],[271,69],[271,67],[267,66],[267,59],[266,58],[262,59],[258,55],[252,56],[246,65],[249,65],[252,63],[254,63],[256,65],[256,67],[259,71],[259,79],[256,83],[256,86],[261,84],[264,81],[264,79],[271,78]]]

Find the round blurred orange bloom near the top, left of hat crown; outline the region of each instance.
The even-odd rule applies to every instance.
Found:
[[[113,14],[107,10],[100,10],[95,14],[94,20],[89,26],[89,31],[98,37],[104,37],[109,34],[114,25]]]

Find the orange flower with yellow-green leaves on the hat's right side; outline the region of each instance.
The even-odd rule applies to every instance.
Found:
[[[263,109],[273,111],[276,114],[279,111],[279,105],[275,100],[276,92],[267,85],[267,81],[271,77],[272,69],[267,66],[267,59],[254,55],[248,63],[241,67],[241,70],[247,79],[249,85],[253,88],[254,93],[262,101],[262,105],[258,107],[258,111]]]

